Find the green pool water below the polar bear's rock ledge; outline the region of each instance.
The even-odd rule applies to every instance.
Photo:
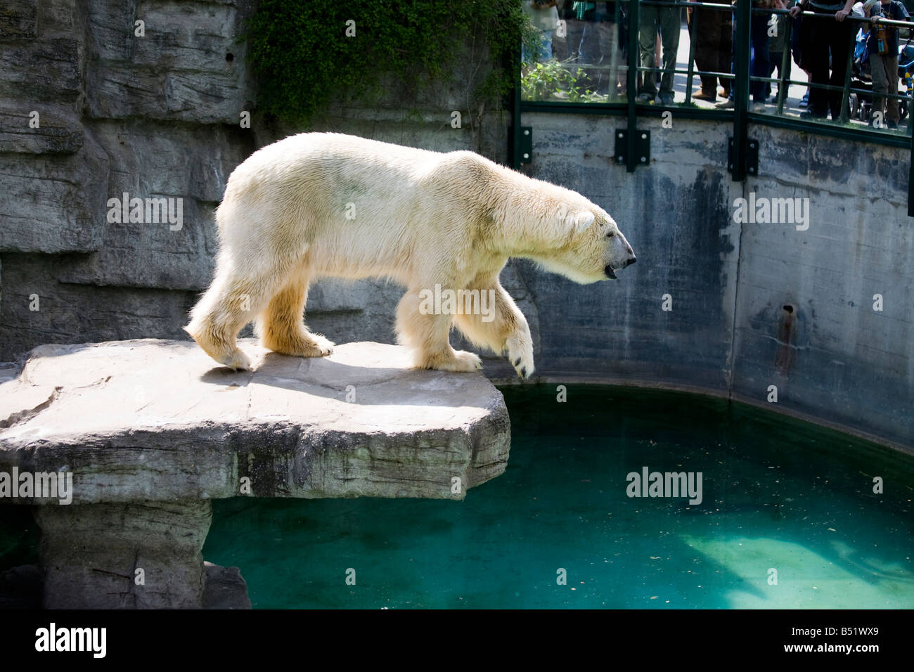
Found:
[[[914,460],[693,395],[503,392],[507,470],[463,502],[221,500],[204,557],[255,608],[914,606]],[[703,502],[627,496],[643,466]]]

